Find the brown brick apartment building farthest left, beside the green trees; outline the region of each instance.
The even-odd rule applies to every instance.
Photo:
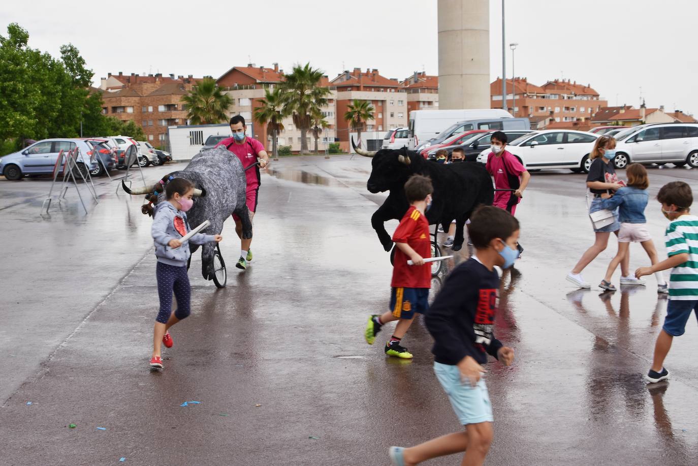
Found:
[[[181,97],[200,80],[174,75],[112,75],[101,80],[102,112],[142,126],[145,137],[155,147],[168,147],[168,126],[186,124]]]

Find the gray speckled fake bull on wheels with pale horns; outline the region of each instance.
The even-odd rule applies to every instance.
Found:
[[[236,214],[242,221],[242,237],[252,238],[252,222],[245,203],[245,170],[235,154],[225,147],[202,150],[184,170],[168,173],[162,181],[166,183],[170,177],[185,178],[195,186],[194,205],[187,212],[191,228],[208,220],[211,226],[204,233],[220,235],[225,219]],[[121,184],[128,194],[147,194],[146,198],[153,204],[165,202],[165,189],[160,182],[154,187],[141,189],[128,189],[124,182]],[[149,205],[144,205],[142,210],[144,214],[152,211]],[[190,244],[189,247],[192,254],[198,249],[198,245]],[[202,275],[207,280],[214,275],[214,248],[213,243],[202,246]]]

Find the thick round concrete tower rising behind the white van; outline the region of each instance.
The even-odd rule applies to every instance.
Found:
[[[489,0],[438,0],[438,108],[489,108]]]

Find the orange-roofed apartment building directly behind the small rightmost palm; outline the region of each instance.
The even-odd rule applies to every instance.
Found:
[[[339,141],[349,140],[350,124],[344,119],[354,99],[369,101],[373,105],[374,117],[366,122],[366,131],[387,131],[407,126],[407,90],[396,79],[385,78],[376,68],[354,68],[344,71],[329,81],[329,88],[336,92],[336,137]]]

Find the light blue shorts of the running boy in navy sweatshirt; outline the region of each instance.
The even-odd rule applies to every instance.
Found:
[[[461,424],[477,424],[481,422],[493,422],[492,405],[489,402],[489,393],[484,379],[480,379],[476,386],[461,381],[461,371],[458,366],[434,362],[436,378],[441,383],[443,390],[448,395],[453,411],[458,416]]]

